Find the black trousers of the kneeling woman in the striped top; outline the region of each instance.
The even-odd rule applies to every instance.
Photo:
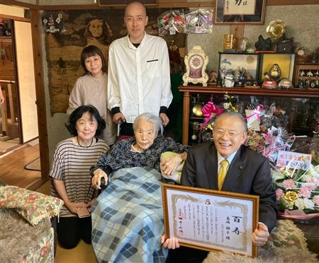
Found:
[[[58,223],[57,217],[55,217],[52,227],[55,228],[57,240],[59,240],[61,247],[66,249],[74,248],[80,239],[84,240],[86,244],[91,244],[91,216],[84,218],[60,217]]]

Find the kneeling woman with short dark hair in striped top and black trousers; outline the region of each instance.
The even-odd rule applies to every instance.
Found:
[[[91,243],[91,206],[97,196],[91,186],[90,167],[108,151],[99,139],[105,121],[92,105],[78,107],[66,124],[72,137],[57,144],[50,170],[51,195],[64,201],[57,223],[57,239],[64,248],[73,248],[82,238]],[[80,217],[86,211],[87,217]],[[55,224],[54,224],[55,225]]]

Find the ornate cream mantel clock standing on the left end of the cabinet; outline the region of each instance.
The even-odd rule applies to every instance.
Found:
[[[208,74],[206,73],[206,66],[208,64],[208,56],[206,56],[201,46],[194,46],[189,54],[184,59],[186,66],[186,73],[183,76],[184,86],[191,82],[194,84],[202,83],[204,87],[207,86]]]

